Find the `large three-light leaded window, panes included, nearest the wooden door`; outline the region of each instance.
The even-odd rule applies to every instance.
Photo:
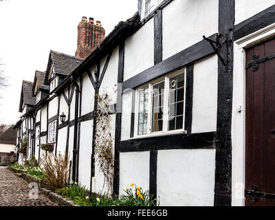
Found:
[[[135,136],[184,131],[185,77],[181,69],[137,89]]]

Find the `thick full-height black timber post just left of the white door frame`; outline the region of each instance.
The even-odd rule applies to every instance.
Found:
[[[216,170],[214,206],[231,206],[232,201],[232,94],[233,94],[233,28],[235,18],[234,0],[219,0],[219,33],[226,38],[227,47],[219,53],[227,58],[224,66],[218,61],[218,103]]]

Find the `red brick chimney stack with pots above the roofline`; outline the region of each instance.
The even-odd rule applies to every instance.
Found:
[[[93,18],[82,17],[78,25],[78,41],[76,57],[87,58],[93,50],[104,40],[105,30],[102,28],[100,21],[94,23]]]

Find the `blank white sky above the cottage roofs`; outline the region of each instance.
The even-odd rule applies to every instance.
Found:
[[[9,87],[0,91],[0,124],[19,120],[22,80],[45,71],[50,50],[73,55],[82,17],[101,21],[106,36],[137,11],[137,0],[0,0],[0,59]]]

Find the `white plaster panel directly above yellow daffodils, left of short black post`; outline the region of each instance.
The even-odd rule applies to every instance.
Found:
[[[149,190],[150,151],[120,153],[120,195],[130,184]]]

